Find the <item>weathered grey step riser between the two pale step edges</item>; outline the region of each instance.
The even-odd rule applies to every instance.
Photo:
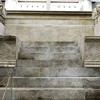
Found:
[[[13,77],[18,88],[92,88],[100,89],[100,77]]]

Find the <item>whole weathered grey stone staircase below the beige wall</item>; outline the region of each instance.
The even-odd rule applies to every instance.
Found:
[[[99,68],[83,66],[77,43],[22,42],[12,80],[12,98],[100,100],[99,76]],[[5,100],[11,100],[10,93]]]

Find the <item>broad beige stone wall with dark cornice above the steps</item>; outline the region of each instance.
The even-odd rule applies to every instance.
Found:
[[[77,41],[94,35],[91,12],[7,12],[6,35],[22,41]]]

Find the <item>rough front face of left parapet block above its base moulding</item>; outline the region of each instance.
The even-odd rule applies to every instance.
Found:
[[[12,36],[0,37],[0,60],[16,59],[16,38]]]

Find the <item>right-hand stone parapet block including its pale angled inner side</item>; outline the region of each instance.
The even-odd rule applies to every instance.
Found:
[[[100,67],[100,36],[85,36],[78,42],[84,67]]]

